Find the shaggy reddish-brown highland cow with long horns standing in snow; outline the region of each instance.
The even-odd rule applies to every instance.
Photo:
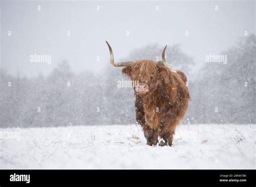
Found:
[[[165,60],[165,46],[162,61],[138,60],[114,62],[109,46],[110,63],[124,67],[122,73],[134,82],[136,96],[136,120],[142,126],[147,145],[172,146],[173,135],[179,122],[185,116],[190,100],[187,77],[182,71],[172,70]],[[160,138],[160,142],[158,141]]]

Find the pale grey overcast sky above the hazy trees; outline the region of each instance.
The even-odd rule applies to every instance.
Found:
[[[205,55],[227,50],[245,31],[255,33],[254,1],[2,1],[1,66],[14,75],[46,75],[66,59],[76,72],[103,73],[107,40],[116,60],[148,44],[180,43],[198,70]],[[30,62],[35,53],[51,55],[51,64]]]

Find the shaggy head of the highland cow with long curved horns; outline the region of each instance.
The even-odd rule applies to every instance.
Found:
[[[162,61],[137,60],[132,62],[114,62],[112,48],[107,41],[106,43],[109,46],[110,63],[114,67],[125,67],[122,73],[131,78],[133,83],[135,83],[134,91],[140,95],[157,89],[159,84],[158,73],[162,70],[161,67],[167,66],[171,69],[171,64],[165,60],[165,49],[167,46],[165,46],[162,53]]]

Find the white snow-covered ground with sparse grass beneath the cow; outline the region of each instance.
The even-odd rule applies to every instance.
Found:
[[[255,169],[255,126],[180,125],[173,147],[138,125],[0,128],[0,168]]]

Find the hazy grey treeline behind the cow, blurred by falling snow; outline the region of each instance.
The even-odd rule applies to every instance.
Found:
[[[205,65],[198,74],[192,73],[193,59],[179,45],[169,49],[166,59],[188,77],[191,102],[183,123],[256,123],[255,35],[216,54],[223,56],[204,54]],[[150,45],[123,60],[158,60],[161,51]],[[75,74],[63,61],[46,77],[26,78],[2,69],[1,127],[135,123],[133,89],[120,87],[122,79],[128,80],[121,70],[107,66],[102,76],[89,71]]]

